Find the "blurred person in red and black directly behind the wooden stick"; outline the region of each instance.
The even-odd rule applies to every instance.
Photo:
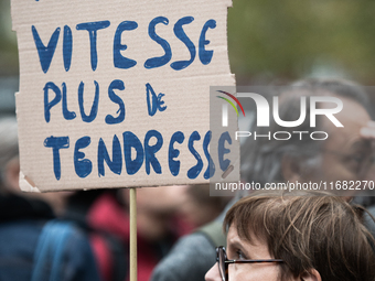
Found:
[[[148,281],[154,266],[175,240],[192,230],[180,213],[185,186],[137,190],[138,281]],[[65,218],[87,229],[105,281],[129,280],[129,191],[77,192],[68,198]]]

